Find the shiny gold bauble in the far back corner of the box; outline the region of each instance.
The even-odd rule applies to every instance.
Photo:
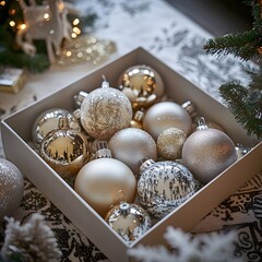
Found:
[[[165,93],[160,75],[144,64],[128,68],[119,78],[119,86],[135,110],[150,107]]]

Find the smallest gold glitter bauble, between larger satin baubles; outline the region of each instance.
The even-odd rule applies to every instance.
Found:
[[[180,158],[186,140],[187,135],[181,129],[166,129],[157,138],[157,153],[168,160]]]

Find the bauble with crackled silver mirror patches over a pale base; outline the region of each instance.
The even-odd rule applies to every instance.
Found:
[[[200,183],[177,162],[145,160],[138,182],[140,203],[156,218],[163,218],[193,195]]]

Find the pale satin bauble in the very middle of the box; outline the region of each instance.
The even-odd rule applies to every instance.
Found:
[[[144,130],[127,128],[115,133],[108,147],[112,157],[124,163],[135,176],[139,175],[141,160],[157,158],[156,143]]]

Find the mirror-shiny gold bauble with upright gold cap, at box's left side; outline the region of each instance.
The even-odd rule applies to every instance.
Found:
[[[86,136],[59,118],[58,129],[49,132],[40,145],[40,156],[62,178],[74,178],[90,158]]]

